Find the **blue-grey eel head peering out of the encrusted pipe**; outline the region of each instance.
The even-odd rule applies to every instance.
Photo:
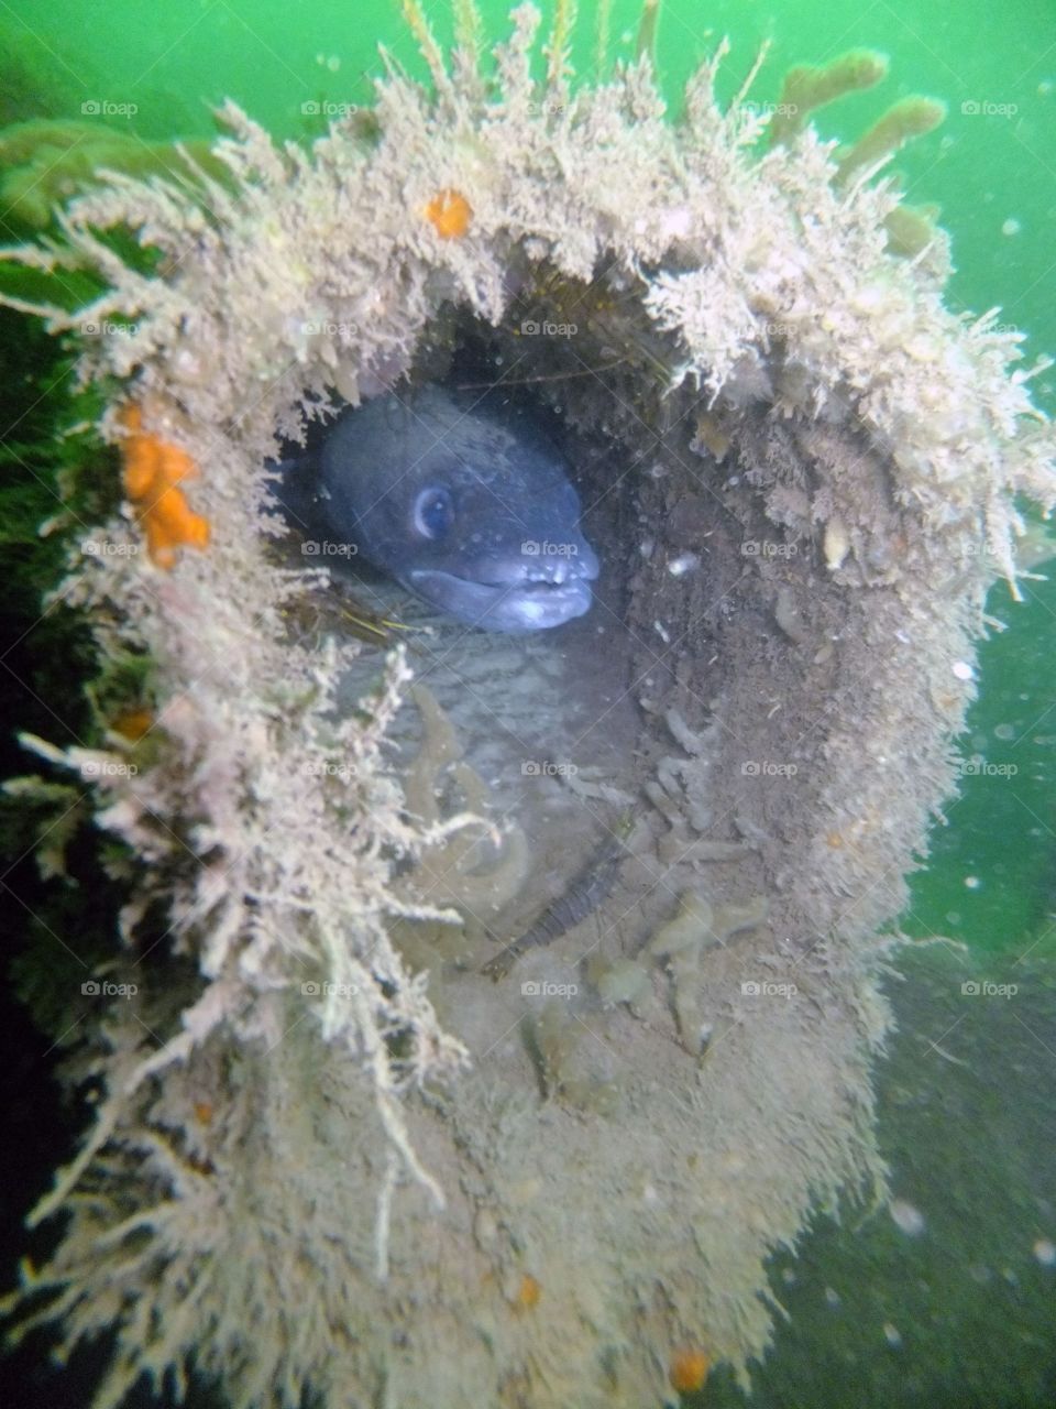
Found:
[[[334,534],[460,621],[538,631],[590,609],[598,559],[566,465],[494,396],[427,386],[344,411],[321,489]]]

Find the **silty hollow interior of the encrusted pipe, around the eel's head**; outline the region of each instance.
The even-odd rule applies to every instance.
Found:
[[[445,307],[407,376],[377,395],[398,414],[417,409],[421,457],[444,440],[422,402],[431,387],[458,402],[448,430],[459,461],[472,454],[462,417],[496,399],[507,424],[548,438],[600,561],[590,609],[511,634],[417,602],[356,551],[337,555],[335,579],[406,633],[417,683],[393,766],[408,817],[439,827],[473,810],[493,827],[401,862],[406,898],[448,912],[393,923],[404,960],[428,971],[431,999],[470,1050],[494,1041],[497,1005],[501,1022],[522,1019],[522,1076],[543,1096],[590,1092],[604,1105],[604,1061],[587,1079],[556,1075],[545,1054],[562,1024],[629,1023],[621,1040],[634,1041],[645,1023],[698,1060],[736,1007],[739,974],[760,954],[772,968],[793,962],[824,936],[824,919],[787,892],[790,848],[817,820],[818,740],[832,700],[852,690],[841,682],[841,641],[856,628],[841,578],[849,544],[812,513],[817,495],[831,507],[825,457],[843,457],[860,482],[872,475],[877,503],[894,510],[849,404],[832,397],[841,414],[804,414],[808,389],[780,347],[721,399],[690,382],[670,390],[679,347],[622,276],[582,285],[528,265],[515,285],[497,327]],[[360,441],[373,434],[346,414],[366,427]],[[398,496],[415,471],[414,455],[400,461],[397,483],[382,475],[370,497]],[[332,492],[324,485],[313,506],[321,533]],[[360,707],[383,648],[379,638],[349,671],[344,709]],[[835,821],[829,840],[843,844]],[[551,989],[563,1012],[541,1019],[532,1005]],[[489,1014],[476,1024],[474,992]]]

